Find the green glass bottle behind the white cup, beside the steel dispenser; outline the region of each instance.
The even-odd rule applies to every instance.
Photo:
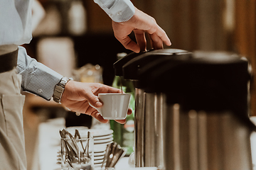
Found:
[[[120,56],[123,56],[122,54],[123,53],[118,54],[117,57],[120,58]],[[114,131],[114,142],[117,142],[121,147],[127,149],[126,156],[129,156],[132,154],[134,146],[134,85],[132,81],[116,76],[114,77],[112,86],[117,89],[122,89],[126,94],[132,94],[129,103],[129,108],[132,108],[132,114],[127,115],[127,122],[120,124],[114,120],[110,120],[110,128]]]

